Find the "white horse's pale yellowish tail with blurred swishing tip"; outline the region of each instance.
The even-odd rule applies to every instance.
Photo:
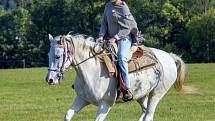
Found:
[[[184,86],[185,75],[186,75],[186,65],[184,61],[177,55],[170,53],[170,56],[175,60],[177,66],[177,79],[174,83],[174,87],[178,92],[184,93],[197,93],[197,89],[191,86]]]

